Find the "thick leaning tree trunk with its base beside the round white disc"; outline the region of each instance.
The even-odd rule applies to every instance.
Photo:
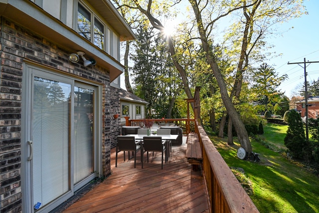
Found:
[[[235,130],[236,130],[236,133],[238,136],[238,140],[239,140],[241,146],[245,149],[246,152],[250,153],[252,151],[252,147],[251,147],[251,144],[249,141],[248,133],[245,129],[243,122],[240,119],[239,114],[237,113],[237,111],[233,105],[231,98],[228,96],[226,83],[224,81],[223,75],[221,74],[221,72],[219,70],[218,64],[215,61],[215,58],[214,58],[213,53],[212,53],[212,49],[211,49],[211,47],[208,43],[208,40],[207,40],[205,27],[203,26],[203,23],[202,23],[202,18],[201,18],[201,14],[200,14],[200,10],[198,8],[197,2],[196,2],[196,0],[189,0],[189,2],[191,3],[192,8],[194,10],[196,21],[197,21],[198,31],[199,31],[199,35],[200,35],[202,46],[203,46],[203,50],[206,52],[207,62],[210,65],[210,67],[214,73],[214,76],[217,80],[223,103],[227,109],[229,117],[231,117],[231,119],[234,123]]]

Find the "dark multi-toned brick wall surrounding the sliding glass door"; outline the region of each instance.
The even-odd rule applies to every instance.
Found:
[[[3,17],[0,33],[0,212],[16,213],[21,212],[23,60],[103,84],[101,143],[104,175],[111,173],[110,149],[120,132],[120,119],[114,119],[113,114],[120,112],[120,103],[116,89],[110,87],[108,70],[98,64],[85,68],[80,63],[71,63],[68,60],[70,51],[59,46],[58,41],[46,40]]]

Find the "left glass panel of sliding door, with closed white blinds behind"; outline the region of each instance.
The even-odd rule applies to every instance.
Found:
[[[33,77],[33,205],[70,191],[71,84]]]

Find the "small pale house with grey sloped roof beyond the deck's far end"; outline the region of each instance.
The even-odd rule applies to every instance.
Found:
[[[130,119],[145,118],[145,110],[149,102],[123,89],[120,90],[120,100],[122,125],[125,125],[126,120],[124,117],[126,116],[130,117]]]

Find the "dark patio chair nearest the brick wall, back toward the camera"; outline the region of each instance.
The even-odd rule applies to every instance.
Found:
[[[116,157],[115,157],[115,167],[118,166],[118,153],[123,151],[124,161],[125,161],[125,151],[133,152],[134,155],[134,168],[136,168],[136,153],[141,150],[141,145],[135,143],[135,137],[128,136],[118,136],[118,142],[116,143]],[[142,154],[142,153],[141,153]]]

